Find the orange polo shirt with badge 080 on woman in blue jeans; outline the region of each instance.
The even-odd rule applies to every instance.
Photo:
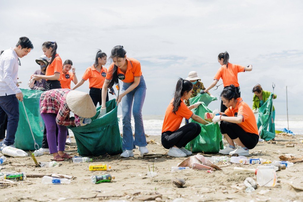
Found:
[[[120,68],[117,69],[118,79],[125,83],[131,83],[135,81],[135,77],[140,77],[142,75],[140,62],[134,58],[126,58],[127,69],[123,73]],[[112,80],[112,69],[114,68],[114,63],[108,68],[108,74],[106,75],[106,80]]]

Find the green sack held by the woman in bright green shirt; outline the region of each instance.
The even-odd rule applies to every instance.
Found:
[[[271,121],[272,95],[273,93],[270,94],[269,98],[259,108],[258,112],[258,119],[261,123],[261,127],[259,129],[260,138],[264,139],[265,141],[272,140],[276,136],[275,133],[271,133],[267,130],[269,121]]]

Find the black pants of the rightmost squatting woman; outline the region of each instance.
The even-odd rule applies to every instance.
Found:
[[[226,116],[223,114],[222,116]],[[237,123],[221,121],[220,130],[222,134],[227,134],[231,139],[239,138],[245,147],[253,149],[259,141],[259,136],[255,133],[246,133]]]

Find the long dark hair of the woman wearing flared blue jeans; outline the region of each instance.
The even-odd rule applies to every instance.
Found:
[[[109,57],[109,61],[112,62],[112,60],[116,57],[124,58],[125,54],[126,51],[124,50],[123,46],[115,46],[111,51],[111,56]],[[118,72],[118,66],[114,65],[114,68],[111,71],[112,80],[109,82],[108,88],[112,88],[113,85],[119,83],[117,72]]]

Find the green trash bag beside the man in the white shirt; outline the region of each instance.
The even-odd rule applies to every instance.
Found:
[[[40,115],[39,100],[43,91],[21,89],[26,113],[39,148],[42,146],[44,121]],[[15,146],[25,151],[34,151],[34,139],[28,125],[22,102],[19,101],[19,122],[15,135]]]

